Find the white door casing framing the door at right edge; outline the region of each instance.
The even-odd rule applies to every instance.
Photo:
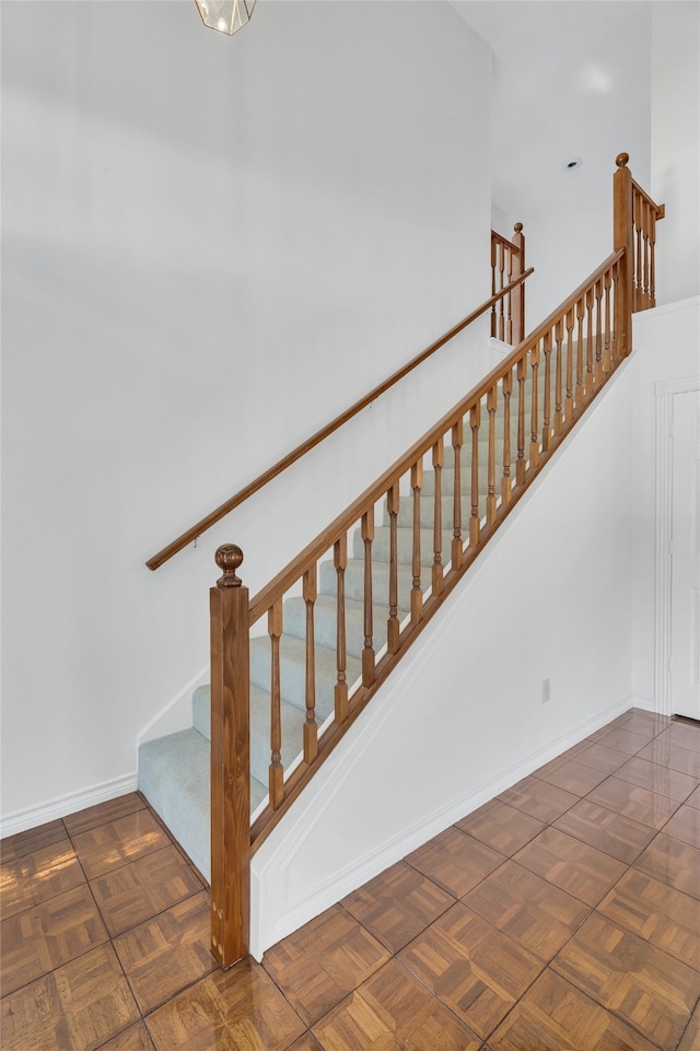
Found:
[[[678,304],[661,307],[668,311]],[[654,599],[655,710],[672,714],[670,699],[670,524],[674,397],[700,389],[700,376],[660,379],[656,395],[656,581]]]

